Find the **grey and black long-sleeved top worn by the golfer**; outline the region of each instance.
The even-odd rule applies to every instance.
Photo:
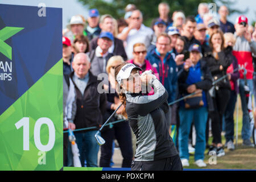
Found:
[[[169,107],[168,93],[158,79],[152,78],[151,96],[126,93],[126,113],[137,138],[135,161],[153,161],[178,154],[168,133],[165,114]]]

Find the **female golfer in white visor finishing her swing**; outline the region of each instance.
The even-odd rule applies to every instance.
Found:
[[[133,171],[183,170],[178,152],[168,133],[165,113],[168,111],[168,93],[151,73],[142,73],[131,63],[115,67],[119,98],[124,105],[122,114],[129,119],[137,138]],[[154,94],[143,94],[143,85],[152,87]]]

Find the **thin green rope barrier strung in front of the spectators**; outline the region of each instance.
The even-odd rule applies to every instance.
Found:
[[[236,69],[233,70],[232,73],[236,72],[238,69],[239,70],[241,70],[241,69],[244,70],[245,68],[236,68]],[[249,71],[249,72],[251,72],[251,71]],[[253,74],[256,75],[256,72],[253,72]],[[218,80],[213,81],[212,85],[215,85],[215,84],[217,84],[217,82],[220,82],[221,80],[224,80],[227,76],[228,75],[224,75],[224,76],[218,78]],[[179,98],[179,99],[177,99],[177,100],[175,100],[173,102],[168,103],[168,105],[169,106],[174,105],[175,103],[180,102],[180,101],[184,100],[185,98],[193,96],[193,95],[195,95],[195,94],[197,94],[199,92],[201,92],[201,91],[197,91],[197,92],[193,92],[191,94],[188,94],[187,96],[181,97],[181,98]],[[115,123],[119,123],[119,122],[123,122],[123,121],[126,121],[126,120],[125,119],[120,119],[120,120],[117,120],[117,121],[109,122],[109,123],[106,124],[106,126],[110,126],[110,128],[112,128]],[[76,131],[86,131],[86,130],[92,130],[92,129],[97,129],[97,127],[93,126],[93,127],[82,128],[82,129],[76,129],[76,130],[73,130],[73,132],[76,132]],[[68,133],[68,131],[63,131],[63,133]]]

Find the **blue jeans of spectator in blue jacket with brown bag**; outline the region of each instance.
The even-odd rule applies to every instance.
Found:
[[[179,126],[179,152],[180,159],[189,159],[188,153],[188,136],[191,124],[194,121],[196,128],[196,146],[195,160],[204,160],[205,151],[205,130],[208,117],[206,107],[198,109],[179,109],[180,126]]]

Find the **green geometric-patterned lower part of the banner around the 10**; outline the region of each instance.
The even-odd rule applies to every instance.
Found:
[[[20,123],[26,124],[17,129],[22,118]],[[35,126],[40,118],[50,119],[53,125]],[[35,132],[36,128],[39,132]],[[42,146],[49,144],[49,133],[51,140],[55,135],[54,144],[51,150],[40,151]],[[24,150],[26,138],[29,138],[25,142],[28,150]],[[62,59],[0,115],[0,146],[0,170],[60,170],[63,167]]]

